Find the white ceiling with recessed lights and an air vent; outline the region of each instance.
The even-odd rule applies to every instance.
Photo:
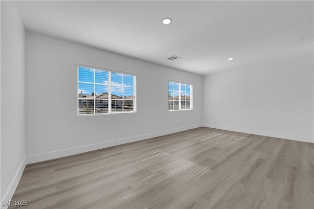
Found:
[[[19,1],[18,6],[28,31],[201,75],[313,53],[314,47],[314,1]],[[173,22],[163,25],[165,17]],[[172,55],[182,59],[166,59]]]

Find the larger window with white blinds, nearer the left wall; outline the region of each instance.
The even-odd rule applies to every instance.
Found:
[[[78,66],[78,115],[136,112],[136,76]]]

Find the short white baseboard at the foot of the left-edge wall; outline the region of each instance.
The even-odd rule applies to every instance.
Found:
[[[15,189],[20,182],[25,166],[26,166],[26,157],[23,159],[22,163],[20,164],[8,189],[4,193],[3,197],[1,197],[1,209],[7,209],[9,207],[8,205],[2,204],[2,203],[5,203],[5,201],[6,203],[8,203],[12,199]]]

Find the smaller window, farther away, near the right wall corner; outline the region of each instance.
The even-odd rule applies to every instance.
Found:
[[[176,81],[168,83],[168,110],[192,110],[192,84]]]

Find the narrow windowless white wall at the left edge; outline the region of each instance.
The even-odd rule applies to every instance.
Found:
[[[25,167],[25,29],[16,3],[0,3],[0,189],[1,201],[4,201],[11,200]]]

